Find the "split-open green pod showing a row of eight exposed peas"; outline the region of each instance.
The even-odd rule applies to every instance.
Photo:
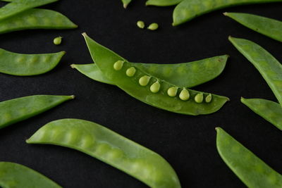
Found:
[[[186,115],[203,115],[214,113],[229,99],[225,96],[212,95],[212,101],[195,101],[198,94],[207,99],[210,94],[197,92],[188,88],[173,85],[166,80],[161,80],[154,75],[147,75],[134,64],[125,61],[113,51],[97,44],[86,34],[83,34],[94,63],[104,76],[114,82],[130,96],[151,106]],[[134,69],[133,75],[127,75],[129,69]],[[160,85],[159,85],[160,84]],[[157,90],[156,87],[157,86]],[[168,94],[174,88],[175,94]],[[179,96],[179,98],[178,98]]]

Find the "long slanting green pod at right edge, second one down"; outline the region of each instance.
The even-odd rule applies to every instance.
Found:
[[[282,65],[268,51],[247,39],[229,37],[230,42],[259,70],[282,105]]]

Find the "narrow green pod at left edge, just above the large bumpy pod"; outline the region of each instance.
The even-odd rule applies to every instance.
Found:
[[[0,129],[48,111],[74,96],[34,95],[0,102]]]

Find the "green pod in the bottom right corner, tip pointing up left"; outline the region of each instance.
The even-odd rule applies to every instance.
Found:
[[[216,146],[219,155],[247,187],[282,187],[282,175],[220,127],[216,128],[216,132]]]

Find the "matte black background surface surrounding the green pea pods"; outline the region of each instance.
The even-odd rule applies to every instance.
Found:
[[[4,5],[1,3],[0,5]],[[172,27],[173,7],[145,7],[133,0],[62,0],[45,6],[67,15],[76,30],[32,30],[0,35],[0,47],[25,54],[67,51],[51,72],[35,77],[0,75],[0,100],[34,94],[75,94],[51,111],[0,131],[0,161],[27,165],[63,187],[146,187],[142,182],[84,153],[51,145],[28,145],[39,127],[61,118],[81,118],[109,127],[156,151],[171,163],[183,187],[244,187],[216,151],[216,126],[282,173],[281,131],[240,103],[240,96],[276,101],[259,72],[228,42],[228,35],[257,42],[278,60],[281,43],[222,15],[224,11],[255,13],[282,20],[281,3],[226,8]],[[137,28],[136,21],[157,22],[159,30]],[[82,32],[133,62],[181,63],[229,54],[226,69],[195,89],[228,96],[231,102],[212,115],[170,113],[143,104],[117,87],[90,80],[72,63],[92,63]],[[54,37],[63,36],[55,46]]]

